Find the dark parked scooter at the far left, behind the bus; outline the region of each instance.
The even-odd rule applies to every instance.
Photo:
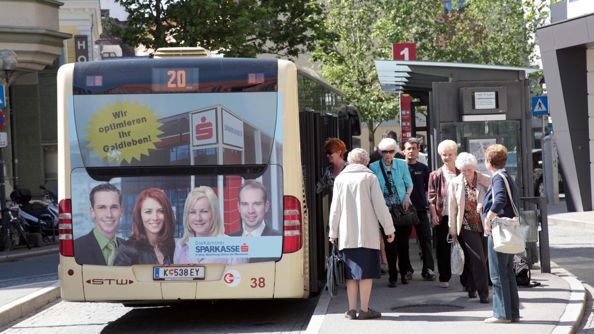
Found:
[[[45,242],[58,241],[58,213],[53,213],[48,203],[31,201],[29,188],[13,190],[10,193],[10,199],[12,203],[9,207],[25,220],[27,233],[39,233]]]

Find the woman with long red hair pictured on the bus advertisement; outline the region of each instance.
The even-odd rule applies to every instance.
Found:
[[[143,190],[132,212],[132,235],[118,248],[114,266],[172,264],[175,216],[163,190]]]

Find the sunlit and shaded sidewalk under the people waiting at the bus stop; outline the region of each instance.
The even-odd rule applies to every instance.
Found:
[[[374,280],[369,306],[382,313],[380,319],[345,319],[348,300],[346,288],[342,287],[339,295],[331,300],[327,291],[323,292],[308,332],[571,333],[582,317],[586,298],[582,283],[575,278],[544,274],[535,269],[532,281],[542,285],[519,288],[522,320],[511,324],[486,324],[483,320],[492,316],[492,294],[489,304],[468,298],[457,275],[453,275],[447,289],[440,288],[438,281],[424,281],[418,247],[412,242],[410,254],[415,273],[409,284],[399,282],[396,288],[388,288],[387,275]],[[324,304],[327,308],[322,316]]]

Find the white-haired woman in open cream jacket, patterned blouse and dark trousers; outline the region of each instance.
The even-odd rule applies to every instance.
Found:
[[[455,240],[461,236],[466,245],[465,267],[467,267],[466,285],[468,297],[476,298],[478,291],[481,303],[489,303],[489,281],[486,270],[487,238],[481,218],[482,202],[486,187],[478,182],[476,157],[462,152],[456,158],[456,168],[460,175],[448,184],[448,208],[450,215],[448,226],[450,235]],[[486,175],[481,177],[488,178]]]

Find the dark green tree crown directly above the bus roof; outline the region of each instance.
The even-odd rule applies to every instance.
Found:
[[[312,0],[117,0],[129,13],[122,40],[157,49],[201,46],[229,57],[296,57],[327,38]]]

